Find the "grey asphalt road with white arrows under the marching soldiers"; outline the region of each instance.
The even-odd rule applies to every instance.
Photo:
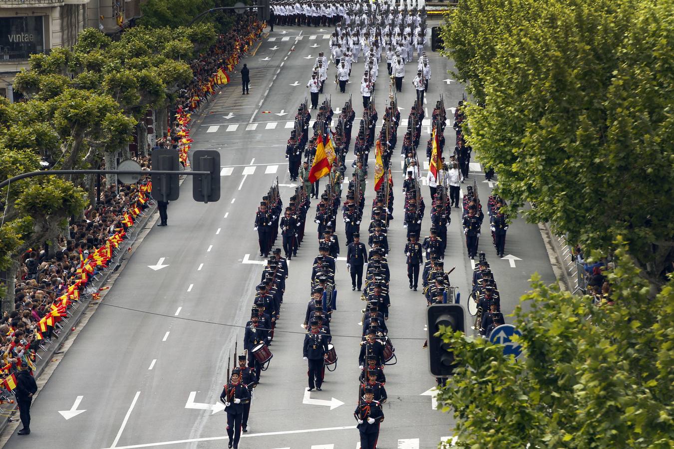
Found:
[[[212,100],[206,114],[197,118],[191,134],[195,139],[193,149],[221,151],[220,201],[195,203],[191,199],[191,179],[185,181],[181,198],[168,207],[168,227],[154,228],[147,234],[103,305],[40,392],[32,407],[32,434],[12,436],[7,448],[225,447],[225,413],[186,408],[186,404],[191,396],[195,403],[218,403],[235,339],[241,346],[241,326],[249,316],[254,286],[262,270],[258,264],[261,259],[257,256],[257,233],[253,232],[256,205],[276,176],[280,184],[292,184],[284,159],[292,122],[289,127],[286,124],[309,96],[305,85],[311,63],[319,50],[328,51],[328,34],[330,30],[316,28],[276,28],[263,40],[257,54],[244,60],[251,70],[251,94],[241,96],[239,76],[235,74],[231,85]],[[305,59],[309,55],[311,59]],[[437,53],[429,52],[429,56],[433,77],[426,96],[427,116],[439,94],[443,94],[446,106],[454,107],[463,93],[460,85],[442,81],[450,78],[446,74],[451,69],[450,61]],[[402,120],[406,120],[415,98],[411,85],[415,69],[416,63],[407,65],[403,92],[398,94]],[[359,63],[353,70],[354,81],[359,81],[361,71]],[[386,73],[385,62],[380,65],[380,73]],[[330,79],[334,79],[332,65],[325,92],[332,96],[333,108],[340,108],[348,94],[338,93]],[[388,87],[384,83],[386,76],[380,75],[379,79],[377,108],[381,116]],[[347,89],[353,92],[356,115],[360,117],[359,83],[352,82]],[[315,111],[311,112],[315,115]],[[452,114],[448,112],[448,116]],[[423,131],[425,142],[429,129],[424,127]],[[399,133],[402,143],[404,126]],[[450,127],[448,133],[450,141]],[[473,168],[475,173],[469,181],[472,176],[483,180],[479,165]],[[381,425],[379,448],[434,448],[441,438],[452,434],[452,419],[433,410],[431,398],[421,395],[435,384],[427,369],[427,352],[421,349],[426,337],[425,300],[420,291],[408,289],[402,254],[402,172],[394,172],[394,182],[395,219],[389,231],[392,309],[388,327],[398,364],[386,368],[390,400],[384,406],[386,420]],[[321,190],[323,185],[321,182]],[[489,186],[480,182],[479,189],[486,207]],[[293,191],[293,187],[281,187],[284,203]],[[423,230],[427,232],[427,188],[423,195],[427,204]],[[368,184],[366,201],[371,202],[372,197],[373,189]],[[313,207],[309,217],[313,217]],[[466,298],[472,265],[466,256],[456,211],[448,229],[446,268],[456,266],[450,279]],[[337,232],[343,244],[341,223]],[[483,228],[483,236],[488,235],[488,228]],[[301,323],[309,298],[311,262],[317,254],[313,236],[315,225],[309,222],[305,243],[289,264],[282,316],[270,347],[274,359],[255,389],[250,431],[242,438],[241,448],[353,449],[357,444],[352,413],[357,400],[358,323],[363,302],[360,293],[349,288],[344,261],[338,261],[338,310],[331,326],[336,336],[333,343],[339,357],[338,368],[326,374],[322,392],[311,392],[311,399],[335,398],[344,405],[330,410],[326,405],[303,404],[307,368],[301,353]],[[488,240],[481,240],[480,249],[487,252],[491,262],[505,313],[512,312],[518,304],[534,271],[547,282],[555,281],[537,226],[522,220],[510,226],[506,254],[522,259],[516,261],[515,267],[498,260]],[[157,271],[148,267],[156,265],[160,258],[168,266]],[[470,324],[467,322],[466,326]],[[66,420],[58,412],[71,409],[78,396],[82,396],[78,409],[86,411]]]

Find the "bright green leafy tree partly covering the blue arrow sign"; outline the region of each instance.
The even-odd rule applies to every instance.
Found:
[[[438,400],[454,409],[459,447],[671,447],[674,279],[651,298],[620,238],[615,247],[614,304],[532,277],[514,314],[520,361],[486,339],[443,333],[459,368]]]

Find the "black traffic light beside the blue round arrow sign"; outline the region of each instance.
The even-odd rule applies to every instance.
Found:
[[[464,310],[458,304],[433,304],[427,309],[428,318],[428,355],[431,374],[435,377],[451,376],[456,365],[454,352],[449,343],[442,337],[435,337],[440,326],[446,326],[454,331],[466,331],[464,325]]]

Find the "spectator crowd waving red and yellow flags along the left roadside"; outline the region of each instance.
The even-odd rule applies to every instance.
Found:
[[[189,165],[191,114],[200,110],[218,86],[228,83],[226,72],[235,69],[264,26],[254,15],[239,16],[231,32],[218,36],[216,44],[192,61],[193,79],[181,90],[174,106],[175,120],[168,133],[156,139],[154,148],[178,149],[183,166]],[[151,169],[149,156],[133,159],[142,170]],[[0,414],[5,417],[10,410],[3,404],[14,402],[11,392],[20,366],[28,364],[33,374],[40,352],[59,339],[73,311],[83,302],[100,298],[100,290],[106,287],[96,289],[94,281],[108,269],[129,229],[154,205],[149,176],[131,185],[108,185],[101,176],[100,183],[96,203],[81,217],[71,217],[67,234],[56,246],[45,243],[20,256],[14,308],[4,310],[0,318]]]

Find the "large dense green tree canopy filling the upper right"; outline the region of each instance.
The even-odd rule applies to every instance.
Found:
[[[468,141],[510,212],[588,249],[630,242],[654,285],[674,261],[674,1],[466,0],[444,27]]]

